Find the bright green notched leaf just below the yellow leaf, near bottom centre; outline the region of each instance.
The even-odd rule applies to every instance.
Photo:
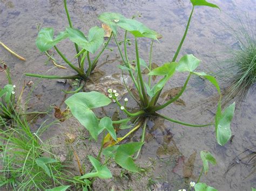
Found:
[[[114,155],[114,160],[118,165],[131,172],[138,172],[137,166],[134,164],[132,155],[142,147],[143,143],[127,143],[119,145]]]

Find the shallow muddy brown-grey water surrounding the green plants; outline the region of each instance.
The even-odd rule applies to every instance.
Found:
[[[217,9],[196,8],[187,39],[180,53],[180,55],[196,55],[202,60],[199,69],[205,72],[215,72],[221,69],[220,60],[223,60],[225,56],[223,52],[236,43],[232,34],[226,30],[227,24],[237,29],[237,16],[244,13],[248,13],[250,18],[255,19],[254,1],[216,0],[214,2],[220,6],[221,12]],[[190,3],[185,0],[136,2],[88,0],[70,1],[68,6],[73,25],[85,33],[92,26],[100,26],[97,16],[102,12],[120,12],[126,17],[131,17],[137,12],[141,13],[142,17],[138,19],[163,35],[160,42],[154,44],[153,62],[158,65],[171,60],[191,11]],[[252,20],[252,23],[255,26],[255,20]],[[24,80],[25,82],[32,80],[36,84],[31,95],[29,94],[31,89],[29,87],[25,89],[24,95],[31,97],[28,109],[30,111],[51,111],[50,105],[59,105],[62,102],[64,93],[60,90],[68,86],[63,86],[62,82],[56,80],[38,80],[25,77],[23,74],[28,72],[64,75],[72,71],[53,68],[51,63],[45,64],[45,55],[41,54],[35,45],[38,26],[54,27],[58,32],[68,26],[62,1],[0,0],[0,40],[27,60],[26,62],[17,60],[2,47],[0,47],[0,59],[10,67],[15,84],[22,85]],[[140,57],[147,61],[150,41],[140,39],[139,43]],[[110,46],[114,47],[113,44]],[[59,48],[71,61],[75,61],[72,57],[75,54],[72,43],[65,40]],[[133,45],[129,48],[131,51],[129,55],[134,58],[132,49]],[[100,67],[105,74],[120,73],[120,70],[115,67],[120,63],[117,49],[113,52],[105,52],[99,63],[105,63]],[[165,90],[182,86],[185,78],[183,74],[174,75]],[[224,79],[219,79],[220,86],[225,90],[227,84],[221,83],[223,81]],[[6,80],[1,73],[1,86],[4,83]],[[213,120],[218,96],[207,82],[199,77],[193,77],[181,99],[181,104],[174,104],[161,112],[188,123],[207,123]],[[131,104],[132,106],[134,105]],[[200,173],[201,150],[210,151],[218,161],[217,166],[210,165],[208,174],[201,178],[202,182],[219,190],[250,190],[251,187],[256,187],[255,158],[249,161],[253,157],[250,153],[254,152],[255,157],[255,111],[254,87],[250,90],[247,100],[237,105],[232,122],[234,137],[232,142],[224,147],[217,144],[213,126],[201,129],[186,128],[161,121],[161,119],[152,119],[146,133],[146,144],[138,162],[142,164],[144,161],[150,161],[150,157],[154,170],[145,175],[146,179],[133,180],[133,183],[128,181],[126,185],[122,185],[122,188],[145,190],[149,179],[157,182],[152,187],[162,190],[187,188],[189,182],[196,181]],[[51,113],[50,117],[52,117]],[[35,126],[43,120],[45,116],[39,119]],[[60,135],[65,128],[66,124],[51,128],[46,132],[46,137]],[[132,140],[139,140],[139,132]],[[118,185],[118,182],[116,184]]]

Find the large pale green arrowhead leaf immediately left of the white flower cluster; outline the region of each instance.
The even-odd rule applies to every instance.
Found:
[[[89,93],[80,92],[69,97],[65,103],[69,106],[74,117],[85,126],[91,136],[97,140],[99,123],[96,115],[91,109],[103,107],[111,103],[105,95],[91,91]]]

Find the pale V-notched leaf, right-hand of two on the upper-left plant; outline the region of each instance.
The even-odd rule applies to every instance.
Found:
[[[88,39],[77,29],[66,28],[66,32],[68,32],[69,39],[73,43],[76,43],[92,54],[94,54],[104,42],[104,30],[98,26],[92,27],[89,30]]]

